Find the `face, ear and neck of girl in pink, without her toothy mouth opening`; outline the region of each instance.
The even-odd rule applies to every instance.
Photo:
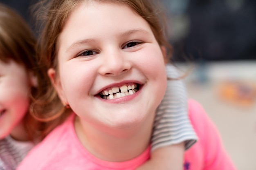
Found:
[[[162,52],[148,23],[124,5],[82,2],[69,16],[58,39],[58,69],[48,75],[78,115],[79,140],[96,157],[125,161],[148,146],[166,90]],[[139,91],[112,100],[98,95],[127,84]]]

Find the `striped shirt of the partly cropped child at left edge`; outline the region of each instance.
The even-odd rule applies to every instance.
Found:
[[[10,136],[0,140],[0,170],[15,170],[34,145],[15,141]]]

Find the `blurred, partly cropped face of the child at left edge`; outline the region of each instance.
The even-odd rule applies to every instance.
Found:
[[[0,139],[20,128],[29,106],[28,91],[25,68],[12,60],[8,64],[0,61]]]

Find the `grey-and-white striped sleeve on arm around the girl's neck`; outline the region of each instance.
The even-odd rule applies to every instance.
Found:
[[[167,76],[178,78],[175,66],[166,66]],[[152,150],[185,142],[185,149],[195,144],[197,136],[187,115],[187,94],[182,80],[169,80],[166,93],[157,108],[152,135]]]

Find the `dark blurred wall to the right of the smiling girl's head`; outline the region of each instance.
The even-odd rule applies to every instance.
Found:
[[[162,0],[174,60],[256,60],[255,0]]]

